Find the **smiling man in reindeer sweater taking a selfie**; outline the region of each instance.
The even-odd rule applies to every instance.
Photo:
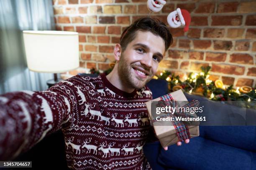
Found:
[[[171,42],[164,23],[141,18],[115,45],[117,62],[107,76],[77,75],[46,91],[0,96],[1,158],[15,157],[61,128],[69,168],[150,169],[142,152],[151,129],[145,102],[152,96],[145,85]]]

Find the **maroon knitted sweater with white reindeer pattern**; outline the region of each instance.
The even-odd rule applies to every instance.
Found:
[[[142,146],[151,126],[148,87],[124,92],[104,74],[76,75],[46,91],[0,96],[0,158],[15,157],[61,129],[69,168],[150,169]]]

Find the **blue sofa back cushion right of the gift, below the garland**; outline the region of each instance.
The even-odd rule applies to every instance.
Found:
[[[215,142],[233,146],[240,149],[256,152],[256,126],[246,126],[246,115],[256,115],[256,110],[246,109],[233,105],[223,104],[221,102],[211,101],[205,97],[189,95],[185,93],[189,101],[196,99],[200,101],[200,107],[204,105],[203,112],[197,113],[197,116],[206,116],[215,126],[204,126],[200,124],[200,137],[204,137]],[[251,119],[250,119],[251,120]],[[256,120],[254,120],[256,122]],[[243,126],[220,126],[237,125]],[[193,139],[192,139],[193,140]]]

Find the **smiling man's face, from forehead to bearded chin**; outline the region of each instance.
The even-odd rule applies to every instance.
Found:
[[[164,50],[160,36],[137,31],[136,38],[121,52],[118,74],[122,83],[136,89],[146,85],[155,75]]]

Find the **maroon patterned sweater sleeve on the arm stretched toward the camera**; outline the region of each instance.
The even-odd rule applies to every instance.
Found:
[[[77,96],[72,78],[46,91],[0,95],[0,160],[13,160],[68,124],[77,110]]]

